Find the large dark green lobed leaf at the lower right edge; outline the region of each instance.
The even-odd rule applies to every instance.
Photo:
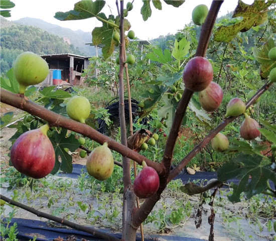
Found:
[[[268,179],[276,184],[276,173],[270,166],[261,165],[261,161],[259,156],[241,155],[217,170],[218,180],[221,182],[232,178],[240,179],[238,185],[233,185],[233,194],[228,196],[231,202],[239,202],[242,192],[247,198],[251,198],[266,190]]]

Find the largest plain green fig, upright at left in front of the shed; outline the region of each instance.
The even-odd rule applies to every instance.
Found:
[[[33,52],[23,52],[14,62],[14,73],[19,83],[19,93],[24,94],[29,85],[41,83],[49,74],[47,62]]]

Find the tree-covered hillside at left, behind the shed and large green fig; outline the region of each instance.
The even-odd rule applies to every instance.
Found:
[[[24,51],[32,51],[39,55],[72,53],[85,55],[78,48],[69,45],[47,31],[36,27],[13,24],[1,19],[1,73],[9,70],[16,57]]]

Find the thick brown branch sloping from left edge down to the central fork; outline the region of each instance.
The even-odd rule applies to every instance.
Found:
[[[36,115],[49,123],[53,127],[62,127],[73,132],[82,134],[85,137],[90,138],[91,140],[96,141],[99,144],[104,142],[108,143],[108,147],[124,157],[128,157],[139,164],[142,164],[143,160],[147,163],[148,166],[151,166],[157,170],[158,173],[162,173],[163,168],[159,163],[153,162],[143,155],[134,152],[133,150],[125,147],[124,145],[114,141],[113,139],[97,132],[95,129],[89,127],[88,125],[74,121],[73,119],[66,118],[61,116],[58,113],[55,113],[45,107],[34,103],[31,100],[25,99],[19,94],[12,93],[8,90],[1,89],[0,100],[3,103],[9,104],[16,108],[25,110],[30,114]]]

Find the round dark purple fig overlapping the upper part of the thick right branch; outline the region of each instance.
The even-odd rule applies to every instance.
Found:
[[[197,56],[189,60],[184,68],[185,87],[191,91],[202,91],[213,79],[213,67],[208,59]]]

